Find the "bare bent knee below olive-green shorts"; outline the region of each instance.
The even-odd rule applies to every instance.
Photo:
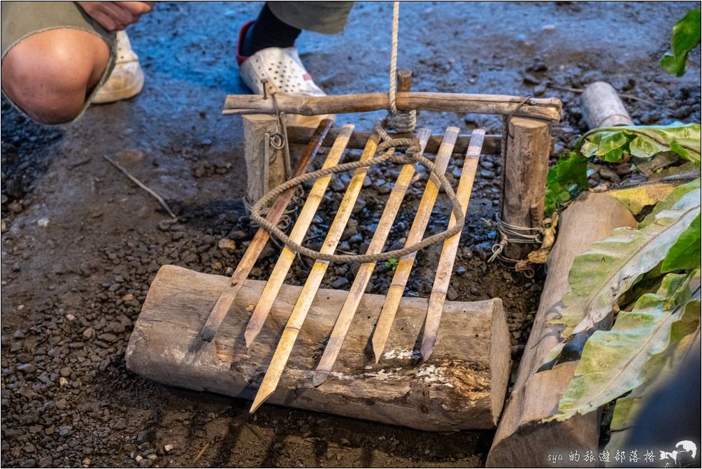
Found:
[[[86,32],[50,33],[35,34],[6,54],[2,86],[33,119],[60,124],[80,114],[89,91],[107,67],[109,48],[102,39]],[[80,35],[75,33],[87,34],[89,38],[85,39],[98,43],[81,43]],[[48,36],[41,37],[45,34]]]

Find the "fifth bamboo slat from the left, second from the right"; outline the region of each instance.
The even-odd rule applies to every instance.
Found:
[[[434,163],[437,171],[440,171],[441,173],[444,173],[444,171],[446,171],[446,166],[449,165],[453,145],[456,144],[456,138],[458,138],[458,131],[458,127],[446,128],[444,140],[442,141],[441,147],[439,147],[439,152],[437,153],[436,161]],[[429,218],[432,214],[432,209],[434,208],[438,194],[439,183],[435,181],[435,178],[429,178],[427,181],[427,187],[425,188],[424,194],[422,194],[422,199],[419,202],[416,216],[414,217],[412,226],[409,229],[409,234],[407,234],[405,246],[410,246],[411,244],[421,241],[427,224],[429,223]],[[412,265],[414,264],[414,258],[416,255],[417,253],[414,252],[402,257],[395,268],[395,275],[392,277],[390,288],[388,288],[388,293],[385,296],[383,310],[380,311],[380,317],[378,318],[376,330],[373,331],[373,355],[376,358],[376,363],[378,363],[380,354],[383,353],[385,343],[388,341],[390,327],[392,326],[392,321],[395,320],[395,313],[397,312],[397,307],[402,299],[404,287],[409,279],[409,272],[412,270]]]

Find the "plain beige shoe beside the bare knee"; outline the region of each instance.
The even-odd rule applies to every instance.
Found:
[[[117,32],[117,62],[110,78],[105,81],[91,100],[93,104],[114,103],[133,98],[144,87],[144,72],[139,65],[139,57],[134,53],[129,37],[124,31]]]

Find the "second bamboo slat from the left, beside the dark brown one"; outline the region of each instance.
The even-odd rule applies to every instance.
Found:
[[[352,124],[346,124],[341,128],[336,142],[334,142],[334,145],[331,147],[331,151],[327,155],[322,168],[329,168],[338,164],[346,149],[346,144],[353,133],[353,129],[354,126]],[[305,205],[303,205],[303,209],[300,211],[300,216],[298,216],[298,220],[290,233],[290,239],[292,239],[293,242],[301,243],[303,239],[305,239],[307,229],[310,227],[310,223],[312,223],[314,214],[317,213],[319,204],[322,203],[324,192],[332,176],[333,175],[329,175],[314,181],[310,194],[307,195],[307,200],[305,200]],[[253,310],[253,315],[251,315],[251,319],[249,319],[249,324],[246,325],[246,332],[244,333],[246,348],[251,346],[251,343],[256,339],[256,336],[258,336],[258,333],[263,327],[265,318],[268,316],[268,312],[270,312],[270,308],[273,306],[273,302],[278,296],[280,287],[285,281],[285,276],[288,275],[290,266],[293,265],[295,256],[296,254],[291,251],[289,247],[284,246],[280,257],[275,263],[275,267],[273,267],[273,272],[271,272],[268,282],[265,285],[265,289],[263,289],[263,293],[261,293],[261,298],[258,303],[256,303],[256,309]]]

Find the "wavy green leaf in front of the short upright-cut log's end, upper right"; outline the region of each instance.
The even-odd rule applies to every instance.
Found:
[[[668,126],[621,126],[595,128],[581,138],[586,157],[618,161],[623,154],[651,158],[662,152],[675,152],[681,158],[700,164],[700,124]]]

